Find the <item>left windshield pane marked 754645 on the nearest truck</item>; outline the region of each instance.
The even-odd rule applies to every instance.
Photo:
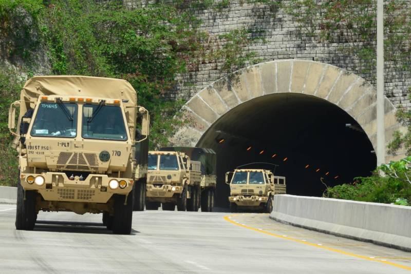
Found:
[[[73,103],[41,103],[35,115],[30,135],[76,137],[77,105]]]

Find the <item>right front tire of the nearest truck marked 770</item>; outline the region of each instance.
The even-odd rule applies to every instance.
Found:
[[[124,205],[125,195],[114,196],[114,216],[113,216],[113,233],[130,234],[132,232],[133,221],[133,191],[127,195],[126,204]]]

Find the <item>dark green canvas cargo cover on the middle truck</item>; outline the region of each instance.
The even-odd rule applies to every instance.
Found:
[[[215,175],[217,154],[211,148],[202,147],[162,147],[160,151],[180,151],[190,157],[190,160],[201,162],[201,174]]]

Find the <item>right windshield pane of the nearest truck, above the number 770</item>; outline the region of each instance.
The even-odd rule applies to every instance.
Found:
[[[86,139],[127,140],[123,113],[117,106],[83,106],[82,136]]]

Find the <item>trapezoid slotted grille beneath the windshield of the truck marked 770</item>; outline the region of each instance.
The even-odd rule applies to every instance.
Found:
[[[98,170],[97,154],[82,152],[60,152],[57,159],[58,169]]]

